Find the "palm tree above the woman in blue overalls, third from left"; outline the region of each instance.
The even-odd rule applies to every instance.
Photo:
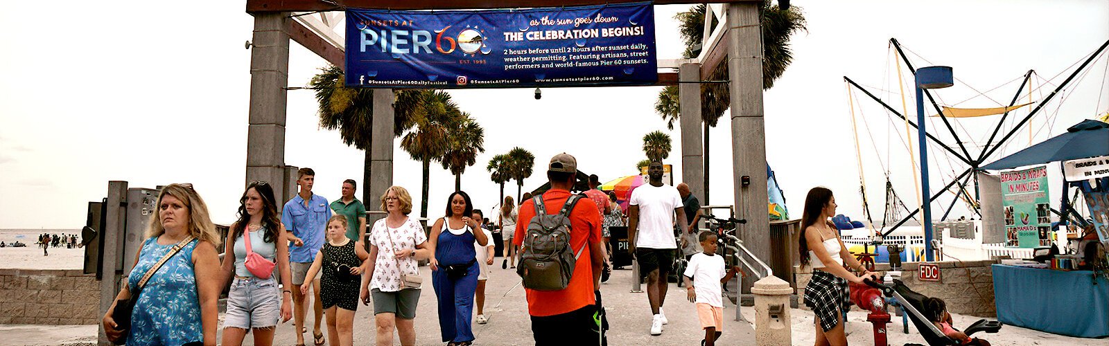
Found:
[[[455,191],[460,191],[466,167],[477,163],[478,154],[485,152],[485,129],[469,113],[462,112],[447,129],[447,142],[449,149],[440,162],[444,170],[455,175]]]

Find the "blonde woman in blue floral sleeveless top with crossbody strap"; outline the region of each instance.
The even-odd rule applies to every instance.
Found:
[[[121,330],[112,318],[115,303],[104,314],[109,338],[128,336],[128,345],[216,344],[220,297],[220,243],[207,206],[192,185],[170,184],[157,196],[157,213],[151,218],[147,240],[116,299],[131,297],[139,281],[174,245],[193,236],[151,276],[134,304],[131,328]]]

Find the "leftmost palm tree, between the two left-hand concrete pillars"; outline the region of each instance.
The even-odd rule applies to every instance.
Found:
[[[369,182],[369,147],[374,122],[374,91],[344,86],[343,69],[328,65],[319,69],[308,85],[316,91],[319,104],[319,126],[338,130],[346,145],[365,153],[363,182]],[[369,189],[362,190],[363,201],[373,201]]]

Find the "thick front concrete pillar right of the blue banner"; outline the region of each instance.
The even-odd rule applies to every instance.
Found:
[[[770,217],[766,213],[766,133],[763,123],[762,2],[728,6],[728,68],[732,99],[732,175],[735,184],[740,238],[751,252],[770,263]],[[744,176],[746,179],[744,179]],[[746,180],[749,185],[742,182]],[[743,279],[742,293],[750,293],[754,277]]]

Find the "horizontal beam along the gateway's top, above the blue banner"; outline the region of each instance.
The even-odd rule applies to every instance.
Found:
[[[516,9],[604,3],[641,2],[642,0],[246,0],[246,12],[312,12],[339,11],[344,8],[391,10],[461,10]],[[763,0],[714,0],[715,3],[755,2]],[[698,4],[696,0],[658,0],[654,4]]]

